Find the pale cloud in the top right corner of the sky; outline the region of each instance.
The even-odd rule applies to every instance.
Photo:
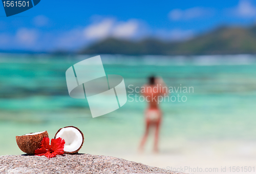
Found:
[[[239,17],[255,17],[256,16],[256,6],[250,1],[240,1],[238,6],[231,9],[231,14],[237,15]]]

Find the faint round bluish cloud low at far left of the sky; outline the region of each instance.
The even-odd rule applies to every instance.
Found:
[[[34,44],[37,37],[38,33],[33,29],[23,28],[19,29],[16,33],[17,42],[23,44],[24,46]]]

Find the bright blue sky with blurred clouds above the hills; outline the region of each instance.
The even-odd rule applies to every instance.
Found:
[[[256,1],[47,1],[6,17],[0,50],[75,50],[107,37],[185,40],[223,25],[256,22]]]

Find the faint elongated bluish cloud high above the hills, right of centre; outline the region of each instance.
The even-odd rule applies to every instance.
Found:
[[[212,9],[194,7],[186,10],[174,9],[169,12],[168,16],[171,20],[189,20],[212,15]]]

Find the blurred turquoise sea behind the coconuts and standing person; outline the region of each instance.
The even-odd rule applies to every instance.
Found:
[[[53,138],[59,128],[70,125],[84,133],[81,153],[122,157],[137,152],[145,102],[128,98],[120,109],[92,118],[87,100],[69,96],[66,70],[89,57],[0,55],[0,155],[23,154],[16,135],[47,130]],[[106,74],[124,78],[127,94],[152,74],[162,77],[168,87],[194,88],[172,94],[185,95],[186,102],[160,104],[161,154],[185,154],[195,143],[256,142],[256,56],[101,55],[101,59]],[[152,140],[146,152],[151,149]]]

